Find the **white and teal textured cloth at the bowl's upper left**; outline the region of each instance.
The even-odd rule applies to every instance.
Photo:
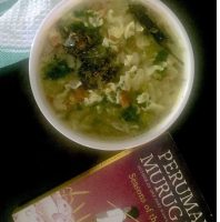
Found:
[[[61,0],[0,0],[0,68],[29,57],[47,13]]]

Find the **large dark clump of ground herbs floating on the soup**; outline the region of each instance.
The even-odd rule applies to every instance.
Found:
[[[79,78],[87,89],[98,88],[117,75],[113,64],[114,54],[102,46],[103,37],[98,28],[86,27],[82,22],[71,24],[71,32],[66,41],[67,52],[80,60]]]

